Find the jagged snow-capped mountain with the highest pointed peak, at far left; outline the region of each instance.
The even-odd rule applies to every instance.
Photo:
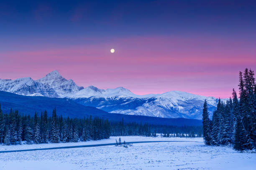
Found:
[[[66,80],[58,71],[53,71],[39,80],[31,77],[16,80],[0,79],[0,90],[18,95],[65,97],[70,93],[82,90],[73,80]]]

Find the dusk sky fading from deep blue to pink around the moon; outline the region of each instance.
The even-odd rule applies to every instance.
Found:
[[[226,98],[256,71],[253,0],[0,1],[0,78]],[[110,49],[115,52],[111,53]]]

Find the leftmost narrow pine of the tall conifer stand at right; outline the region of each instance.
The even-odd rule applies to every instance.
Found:
[[[210,119],[209,119],[209,113],[208,113],[208,106],[207,106],[207,101],[205,99],[205,103],[203,106],[203,135],[204,135],[204,140],[205,140],[205,145],[210,145],[211,144],[211,127],[210,127]]]

